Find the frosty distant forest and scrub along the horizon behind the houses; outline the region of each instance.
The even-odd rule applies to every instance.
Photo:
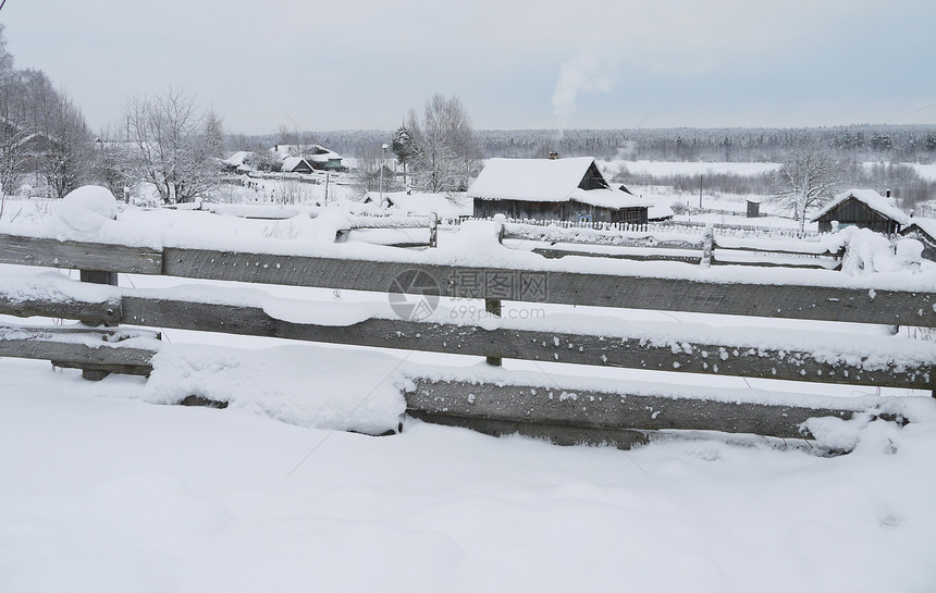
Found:
[[[288,133],[229,136],[231,150],[260,150],[276,143],[321,144],[348,157],[372,155],[389,144],[393,131]],[[936,161],[934,125],[849,125],[814,128],[655,128],[655,129],[479,129],[475,132],[483,158],[595,157],[599,160],[728,161],[781,163],[799,146],[827,146],[841,163],[842,185],[884,193],[892,189],[899,205],[917,209],[936,200],[936,182],[920,177],[899,163]],[[861,163],[877,163],[862,166]],[[687,175],[637,177],[626,169],[612,173],[615,182],[638,186],[668,186],[692,192],[699,178]],[[775,175],[710,175],[707,192],[772,195]],[[926,210],[929,210],[928,208]],[[936,211],[929,213],[936,214]]]

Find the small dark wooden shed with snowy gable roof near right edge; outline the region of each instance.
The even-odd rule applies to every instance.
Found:
[[[812,222],[818,222],[820,233],[832,231],[833,221],[841,226],[871,228],[877,233],[892,235],[910,223],[910,217],[874,189],[849,189],[836,196]]]

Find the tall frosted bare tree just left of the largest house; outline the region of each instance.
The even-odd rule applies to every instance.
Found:
[[[409,162],[416,187],[427,192],[468,187],[479,151],[471,118],[457,97],[434,95],[426,101],[422,121],[409,111],[406,128],[412,138]]]

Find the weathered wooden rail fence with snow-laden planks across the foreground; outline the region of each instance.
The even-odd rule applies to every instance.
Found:
[[[550,265],[531,269],[463,265],[431,258],[374,261],[223,248],[157,249],[12,235],[0,235],[0,263],[78,269],[83,270],[82,280],[109,284],[115,284],[120,272],[367,291],[381,293],[391,304],[412,295],[416,301],[407,301],[407,306],[412,305],[409,311],[419,310],[418,305],[429,297],[453,297],[482,299],[492,314],[500,312],[502,301],[513,300],[936,326],[936,292],[827,282],[724,282],[705,273],[643,276]],[[855,343],[854,334],[797,331],[764,336],[763,330],[746,333],[679,323],[646,326],[584,316],[577,317],[575,323],[550,319],[458,323],[444,314],[422,318],[399,314],[395,309],[395,316],[370,312],[343,324],[295,321],[272,314],[275,307],[271,309],[262,300],[251,301],[241,294],[225,297],[230,294],[226,291],[219,287],[215,296],[205,299],[184,293],[153,295],[116,286],[91,287],[60,275],[19,281],[14,276],[0,284],[0,313],[77,319],[89,325],[130,324],[457,353],[487,357],[494,365],[515,358],[919,390],[933,388],[931,373],[936,361],[932,342],[895,336],[867,336]],[[140,348],[140,334],[125,329],[88,332],[4,326],[0,330],[0,356],[54,360],[60,366],[86,369],[95,378],[107,371],[146,373],[148,358],[159,349],[155,336],[144,341]],[[756,391],[718,394],[630,384],[608,387],[587,380],[567,387],[544,385],[542,379],[493,366],[484,372],[419,367],[406,372],[412,380],[411,390],[405,394],[411,416],[495,434],[547,436],[556,442],[629,446],[662,429],[809,437],[804,422],[815,417],[867,413],[904,420],[894,398],[804,399]]]

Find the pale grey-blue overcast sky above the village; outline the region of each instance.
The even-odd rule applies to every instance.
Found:
[[[229,132],[936,123],[936,0],[7,0],[98,128],[172,84]]]

